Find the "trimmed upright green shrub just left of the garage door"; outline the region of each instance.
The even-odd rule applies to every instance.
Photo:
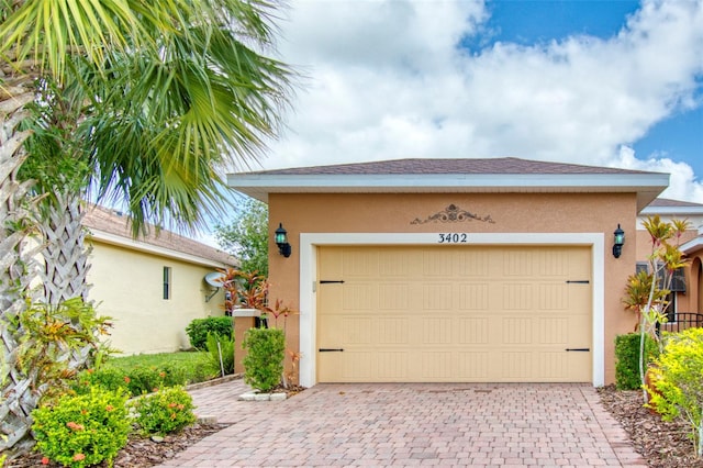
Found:
[[[247,349],[243,359],[246,383],[265,392],[280,383],[286,357],[286,336],[282,330],[249,328],[242,346]]]

